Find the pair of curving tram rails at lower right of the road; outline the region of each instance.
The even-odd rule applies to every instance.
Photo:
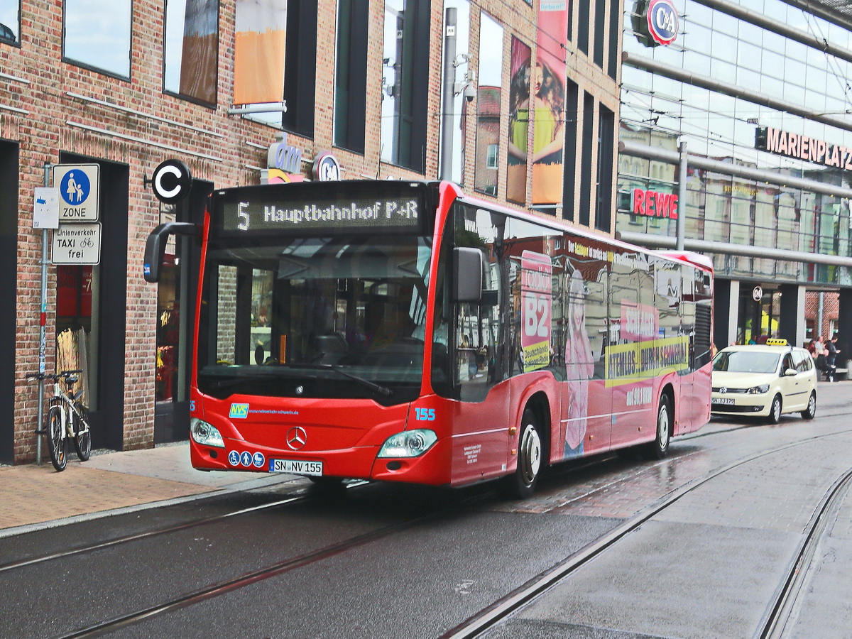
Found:
[[[700,486],[704,486],[707,482],[758,459],[766,458],[797,446],[804,446],[815,440],[824,440],[840,435],[849,435],[849,429],[824,435],[815,435],[784,446],[776,446],[771,450],[741,458],[733,463],[728,463],[725,466],[711,470],[705,473],[705,475],[679,486],[664,498],[659,498],[646,509],[642,509],[641,512],[630,517],[610,532],[596,538],[589,544],[586,544],[582,549],[567,556],[555,566],[528,580],[527,583],[513,590],[507,596],[493,602],[488,607],[482,608],[479,613],[472,615],[462,624],[441,635],[440,639],[475,639],[475,637],[486,636],[489,630],[497,628],[498,625],[501,625],[513,614],[520,612],[533,603],[538,596],[543,595],[546,591],[556,586],[556,584],[560,584],[562,581],[570,578],[580,567],[588,564],[597,556],[601,556],[607,550],[613,548],[613,546],[619,544],[625,538],[628,538],[631,533],[636,532],[639,527],[642,527],[642,524],[650,521],[655,515],[659,515],[659,513],[670,508],[681,498],[690,492],[694,492]],[[792,607],[797,601],[797,594],[801,589],[804,579],[806,579],[810,561],[813,559],[815,549],[826,530],[827,521],[829,521],[827,515],[832,509],[837,508],[838,504],[846,496],[850,483],[852,483],[852,469],[832,484],[832,487],[826,491],[820,504],[815,509],[807,530],[803,535],[803,541],[799,544],[793,560],[786,568],[780,580],[780,585],[775,591],[771,602],[769,602],[767,612],[764,613],[763,619],[754,633],[755,639],[779,639],[782,636],[781,633],[784,631],[786,621],[790,619]]]

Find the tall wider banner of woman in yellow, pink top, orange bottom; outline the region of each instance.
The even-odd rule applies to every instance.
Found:
[[[562,200],[562,148],[565,141],[565,0],[542,2],[538,50],[533,66],[533,204]]]

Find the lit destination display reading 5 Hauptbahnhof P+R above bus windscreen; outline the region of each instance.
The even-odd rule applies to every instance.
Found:
[[[349,198],[311,202],[232,201],[222,210],[225,231],[417,228],[419,199]]]

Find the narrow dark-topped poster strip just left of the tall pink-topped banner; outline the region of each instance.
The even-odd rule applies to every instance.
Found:
[[[533,49],[512,36],[509,80],[509,153],[506,199],[527,204],[527,162],[529,140],[530,60]]]

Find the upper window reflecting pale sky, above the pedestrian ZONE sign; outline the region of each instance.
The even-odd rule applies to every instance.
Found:
[[[130,79],[131,0],[66,0],[62,59]]]

